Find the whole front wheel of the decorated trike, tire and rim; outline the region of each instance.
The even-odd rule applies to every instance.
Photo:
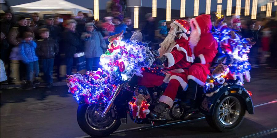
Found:
[[[116,107],[111,108],[105,117],[101,117],[104,109],[105,107],[101,105],[79,105],[77,121],[86,134],[92,137],[109,136],[120,126]]]

